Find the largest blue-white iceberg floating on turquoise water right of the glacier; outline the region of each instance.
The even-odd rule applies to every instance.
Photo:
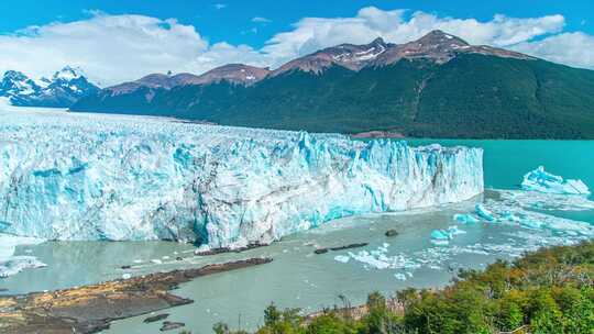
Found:
[[[590,189],[582,180],[563,180],[560,176],[547,172],[542,166],[524,176],[521,188],[562,194],[590,194]]]

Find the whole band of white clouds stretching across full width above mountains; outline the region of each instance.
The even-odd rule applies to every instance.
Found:
[[[594,36],[563,32],[564,18],[517,19],[495,15],[490,21],[443,18],[426,12],[361,9],[352,18],[304,18],[265,46],[209,44],[193,25],[174,19],[109,15],[89,12],[87,20],[30,26],[0,35],[0,73],[22,70],[50,76],[64,65],[80,66],[103,85],[132,80],[150,73],[204,73],[228,63],[276,67],[294,57],[340,43],[369,43],[382,36],[405,43],[435,29],[473,44],[525,52],[574,66],[594,68]],[[255,18],[254,18],[255,19]],[[264,18],[262,18],[264,19]]]

